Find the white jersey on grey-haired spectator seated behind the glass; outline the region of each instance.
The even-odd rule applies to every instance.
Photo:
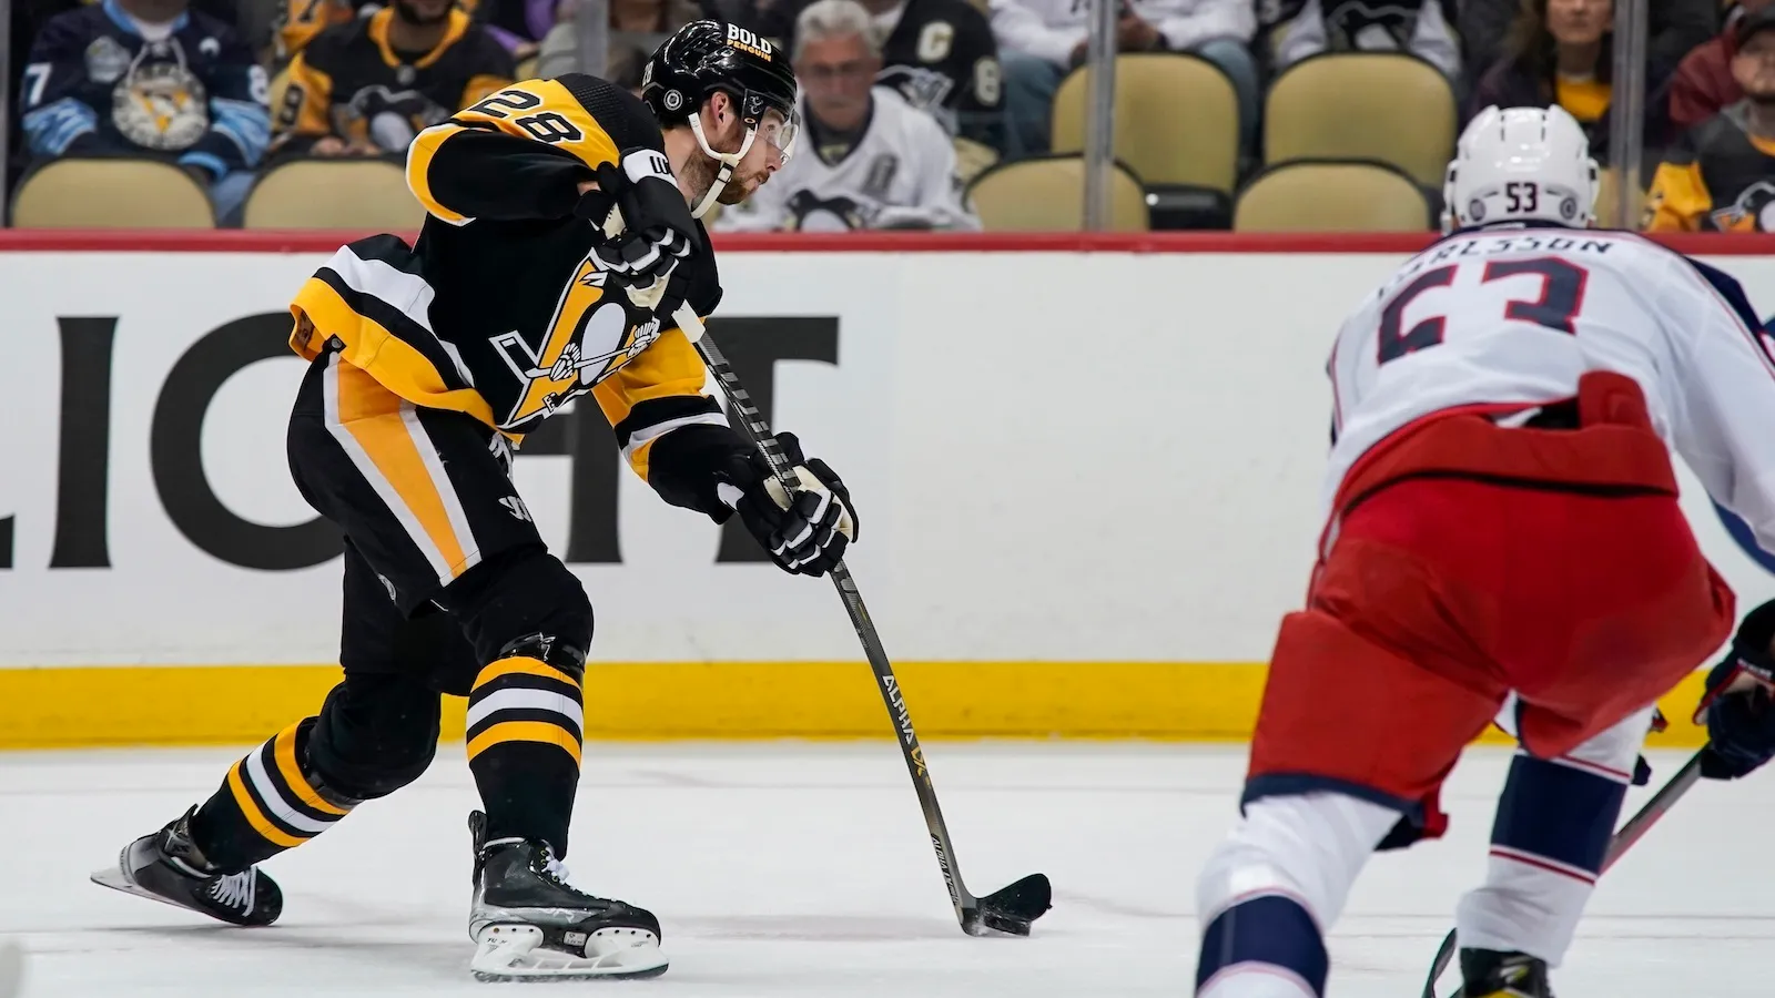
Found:
[[[978,229],[960,199],[955,144],[898,91],[873,87],[857,135],[834,135],[801,108],[801,151],[746,204],[721,213],[717,229]]]

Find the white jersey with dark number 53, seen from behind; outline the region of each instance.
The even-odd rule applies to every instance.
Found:
[[[1736,281],[1633,233],[1489,227],[1406,261],[1344,323],[1329,511],[1345,472],[1452,408],[1532,414],[1589,371],[1638,382],[1653,428],[1775,550],[1775,360]]]

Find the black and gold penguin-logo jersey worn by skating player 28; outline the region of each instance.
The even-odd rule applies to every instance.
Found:
[[[637,147],[664,151],[646,105],[579,73],[506,87],[428,128],[406,162],[430,213],[419,242],[373,236],[334,254],[291,304],[291,346],[314,359],[334,345],[414,405],[513,439],[593,392],[641,478],[719,513],[714,481],[687,469],[744,442],[703,394],[696,348],[628,300],[591,252],[602,234],[573,215],[593,167]],[[680,266],[706,316],[721,298],[714,252]],[[657,460],[667,435],[676,471]]]

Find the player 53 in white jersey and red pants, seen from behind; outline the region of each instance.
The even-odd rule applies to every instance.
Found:
[[[1463,994],[1551,994],[1653,701],[1731,632],[1670,449],[1775,550],[1755,314],[1731,277],[1589,231],[1596,181],[1560,108],[1484,110],[1448,167],[1459,229],[1338,332],[1319,561],[1198,879],[1198,998],[1324,994],[1369,854],[1441,835],[1441,781],[1505,703],[1523,753],[1457,911]],[[1713,776],[1775,753],[1768,694],[1732,678],[1766,671],[1771,616],[1709,677]]]

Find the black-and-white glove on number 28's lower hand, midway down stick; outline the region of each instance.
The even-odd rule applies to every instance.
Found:
[[[770,552],[785,572],[824,575],[845,558],[845,547],[857,540],[857,513],[850,490],[825,462],[806,460],[793,433],[777,433],[783,455],[795,465],[801,485],[793,501],[777,485],[765,456],[735,455],[717,472],[715,492],[740,513],[746,529]]]

